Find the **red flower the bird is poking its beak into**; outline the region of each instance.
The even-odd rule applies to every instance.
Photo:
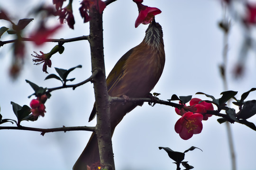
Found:
[[[143,0],[133,0],[138,7],[139,15],[135,21],[135,27],[137,28],[140,24],[149,24],[155,15],[160,14],[162,11],[158,8],[148,7],[143,5]]]

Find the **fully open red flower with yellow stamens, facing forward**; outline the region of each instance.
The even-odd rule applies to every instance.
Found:
[[[178,119],[174,129],[184,140],[190,139],[193,134],[199,134],[202,131],[203,116],[199,113],[186,112],[182,118]]]

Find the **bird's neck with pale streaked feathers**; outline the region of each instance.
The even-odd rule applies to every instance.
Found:
[[[143,42],[152,48],[159,49],[159,46],[164,44],[162,31],[152,26],[146,31]]]

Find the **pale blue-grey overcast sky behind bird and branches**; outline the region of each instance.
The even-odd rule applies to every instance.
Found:
[[[0,8],[18,19],[27,17],[27,12],[35,4],[51,0],[0,0]],[[89,23],[83,24],[79,15],[80,1],[73,1],[75,16],[74,30],[64,25],[62,30],[52,38],[71,38],[89,34]],[[224,91],[219,76],[219,64],[222,63],[223,32],[218,27],[222,19],[222,8],[219,0],[144,0],[144,5],[157,7],[162,13],[156,16],[156,22],[163,27],[165,42],[165,69],[153,92],[161,93],[160,99],[170,99],[173,94],[193,95],[203,100],[204,92],[220,97]],[[139,44],[147,26],[135,28],[137,6],[132,0],[118,0],[104,10],[104,54],[106,73],[108,74],[117,60],[129,49]],[[55,26],[56,20],[49,22]],[[37,25],[34,20],[29,29]],[[9,26],[0,21],[0,26]],[[3,36],[1,41],[12,39]],[[228,86],[229,90],[238,91],[237,98],[252,87],[256,87],[256,59],[251,51],[247,58],[246,74],[235,80],[232,68],[238,59],[243,35],[236,22],[232,22],[229,34],[228,53]],[[55,43],[50,42],[37,48],[27,43],[27,56],[24,69],[16,81],[9,78],[8,69],[11,63],[11,44],[0,48],[0,107],[3,119],[16,119],[10,101],[20,105],[27,104],[33,93],[25,82],[28,79],[43,87],[56,87],[61,83],[55,79],[44,81],[47,76],[42,72],[42,65],[33,65],[33,51],[49,52]],[[81,82],[91,75],[90,48],[87,41],[64,44],[62,55],[52,57],[52,68],[75,69],[70,78],[73,83]],[[35,122],[22,122],[23,126],[52,128],[68,126],[94,126],[95,121],[87,123],[94,102],[92,84],[88,83],[76,90],[64,89],[51,93],[46,102],[46,115]],[[256,92],[250,93],[248,99],[256,99]],[[189,140],[183,140],[174,131],[174,124],[180,118],[174,108],[164,105],[142,107],[128,113],[115,129],[112,138],[116,170],[175,170],[175,164],[159,146],[170,147],[183,152],[191,146],[203,150],[186,153],[185,160],[195,170],[230,170],[229,145],[225,124],[219,124],[217,117],[203,121],[201,134]],[[256,118],[249,121],[256,123]],[[11,126],[11,124],[3,124]],[[255,170],[256,132],[239,124],[232,124],[232,133],[237,156],[238,170]],[[0,130],[0,169],[2,170],[71,170],[74,162],[82,153],[91,132],[56,132],[41,136],[39,132]]]

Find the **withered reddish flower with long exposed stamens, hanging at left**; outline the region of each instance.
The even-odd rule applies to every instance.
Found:
[[[37,52],[35,52],[34,51],[34,53],[36,54],[36,55],[33,55],[33,54],[31,54],[33,57],[36,57],[37,59],[33,59],[33,61],[34,62],[38,62],[38,63],[36,63],[36,65],[39,65],[39,64],[42,64],[43,62],[44,62],[44,65],[43,65],[43,71],[44,72],[46,72],[46,73],[48,73],[47,72],[47,66],[50,68],[50,67],[52,67],[52,61],[50,60],[50,58],[51,58],[51,54],[50,53],[43,53],[42,51],[40,51],[40,53],[42,54],[42,55],[39,55],[39,54],[37,54]]]

